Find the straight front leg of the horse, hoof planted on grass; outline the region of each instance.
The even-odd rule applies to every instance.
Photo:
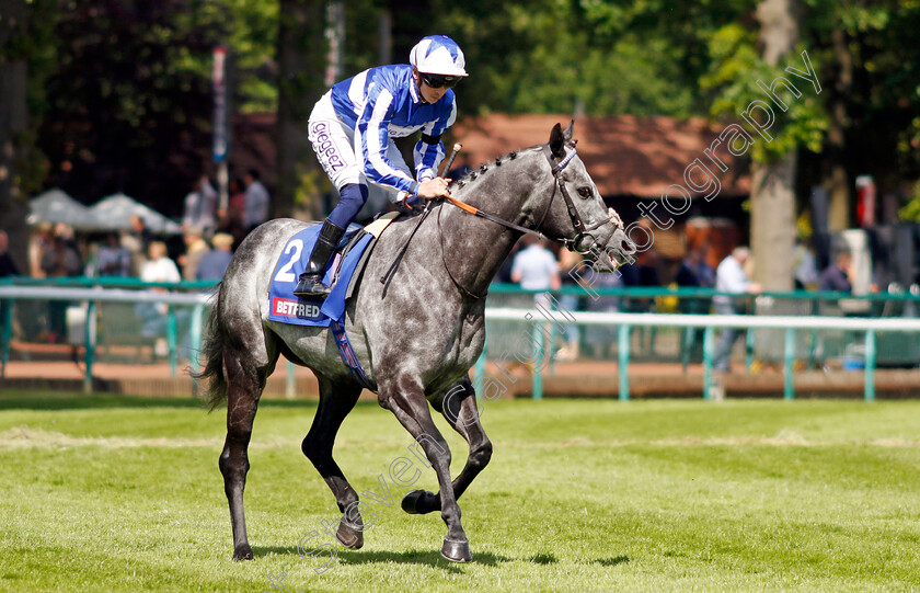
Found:
[[[380,406],[393,412],[405,430],[422,445],[428,463],[438,476],[441,518],[447,524],[441,556],[453,562],[469,562],[473,558],[470,554],[470,543],[460,523],[460,506],[450,482],[450,449],[432,420],[422,381],[416,377],[396,377],[380,386],[379,401]]]

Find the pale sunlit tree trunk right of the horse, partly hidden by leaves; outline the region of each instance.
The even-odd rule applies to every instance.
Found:
[[[777,65],[798,37],[794,0],[762,0],[757,7],[763,59]],[[754,278],[767,290],[793,286],[795,150],[773,162],[755,162],[751,174]]]

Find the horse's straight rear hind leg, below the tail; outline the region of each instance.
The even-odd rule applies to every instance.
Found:
[[[233,560],[252,560],[252,548],[246,537],[243,490],[250,467],[246,451],[258,398],[265,387],[266,372],[251,362],[249,352],[227,349],[223,352],[223,373],[228,383],[227,440],[219,465],[223,474],[223,490],[230,503]]]

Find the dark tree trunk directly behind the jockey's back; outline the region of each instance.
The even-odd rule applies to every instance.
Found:
[[[291,216],[298,195],[309,216],[321,212],[322,171],[310,148],[308,119],[325,92],[325,2],[280,0],[278,30],[278,162],[275,216]]]

